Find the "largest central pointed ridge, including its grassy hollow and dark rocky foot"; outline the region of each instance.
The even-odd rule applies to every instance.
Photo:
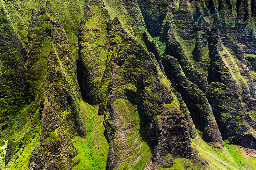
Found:
[[[172,164],[173,157],[191,158],[188,123],[153,53],[146,52],[122,28],[118,18],[112,21],[109,33],[112,55],[108,61],[111,71],[104,120],[105,136],[110,143],[107,169],[142,159],[139,154],[131,160],[125,156],[132,153],[132,149],[125,148],[137,144],[137,139],[129,140],[129,136],[138,133],[133,129],[136,122],[140,122],[140,137],[145,133],[144,126],[148,144],[155,148],[154,162],[165,167]],[[124,113],[125,108],[129,109]],[[133,114],[137,115],[137,120]],[[131,147],[136,148],[134,144]]]

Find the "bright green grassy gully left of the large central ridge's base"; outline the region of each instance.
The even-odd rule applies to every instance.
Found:
[[[72,160],[73,170],[105,170],[108,157],[108,142],[103,134],[104,115],[98,115],[99,106],[93,107],[84,101],[80,102],[86,121],[87,137],[75,137],[74,146],[78,155]]]

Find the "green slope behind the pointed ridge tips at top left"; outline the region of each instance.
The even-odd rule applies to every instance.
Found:
[[[48,2],[48,4],[46,3]],[[6,3],[9,7],[11,15],[17,26],[21,40],[28,45],[28,23],[32,14],[33,7],[39,10],[41,6],[46,8],[46,11],[52,19],[53,11],[55,10],[60,16],[61,23],[65,32],[67,33],[68,40],[76,58],[78,58],[78,41],[77,33],[79,23],[83,13],[83,2],[72,0],[49,0],[49,1],[36,1],[36,0],[13,0],[12,3]],[[47,7],[46,7],[47,6]]]

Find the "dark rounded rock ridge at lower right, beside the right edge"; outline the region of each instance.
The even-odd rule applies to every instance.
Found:
[[[207,88],[206,97],[212,106],[222,139],[254,149],[256,122],[242,107],[239,95],[226,85],[214,82]]]

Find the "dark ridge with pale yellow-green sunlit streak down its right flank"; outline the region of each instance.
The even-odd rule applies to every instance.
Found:
[[[209,66],[209,82],[220,82],[234,89],[239,94],[245,108],[255,98],[255,85],[244,59],[240,41],[241,32],[237,28],[210,23],[209,41],[215,44],[209,49],[211,63]],[[209,29],[208,29],[209,30]],[[227,34],[227,31],[229,33]]]

